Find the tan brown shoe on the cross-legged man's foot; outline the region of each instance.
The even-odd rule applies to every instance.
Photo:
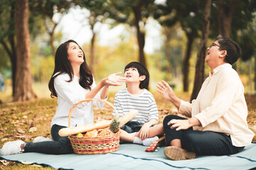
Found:
[[[180,147],[174,147],[174,146],[165,147],[164,154],[166,157],[174,161],[196,158],[195,152],[188,152],[185,149],[181,149]]]

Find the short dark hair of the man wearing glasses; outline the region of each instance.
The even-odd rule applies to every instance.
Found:
[[[226,50],[227,55],[224,58],[224,62],[228,62],[229,64],[233,64],[238,61],[238,58],[242,54],[242,50],[237,42],[231,40],[230,38],[223,37],[222,35],[218,35],[216,38],[220,44],[219,50]]]

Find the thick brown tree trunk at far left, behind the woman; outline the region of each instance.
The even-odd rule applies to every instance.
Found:
[[[16,0],[15,33],[17,40],[17,69],[14,101],[36,97],[32,89],[30,35],[28,30],[28,0]]]

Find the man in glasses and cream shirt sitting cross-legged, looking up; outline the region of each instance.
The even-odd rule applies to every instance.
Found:
[[[178,108],[177,115],[164,118],[169,159],[193,159],[196,154],[225,155],[240,152],[250,145],[254,133],[247,126],[244,87],[231,64],[241,55],[239,45],[221,35],[207,48],[206,59],[211,71],[192,103],[177,98],[165,82],[158,91]]]

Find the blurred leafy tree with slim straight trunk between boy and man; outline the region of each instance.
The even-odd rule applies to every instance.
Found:
[[[203,5],[201,1],[198,0],[169,0],[166,1],[165,4],[159,4],[157,7],[156,11],[154,11],[154,18],[159,21],[161,26],[170,28],[178,22],[186,33],[186,53],[183,59],[183,91],[188,91],[189,60],[191,58],[193,42],[198,37],[198,30],[200,30],[202,26],[201,18],[203,18]],[[168,33],[164,31],[164,34],[166,35],[166,40],[168,40]],[[166,48],[170,47],[166,46]]]

